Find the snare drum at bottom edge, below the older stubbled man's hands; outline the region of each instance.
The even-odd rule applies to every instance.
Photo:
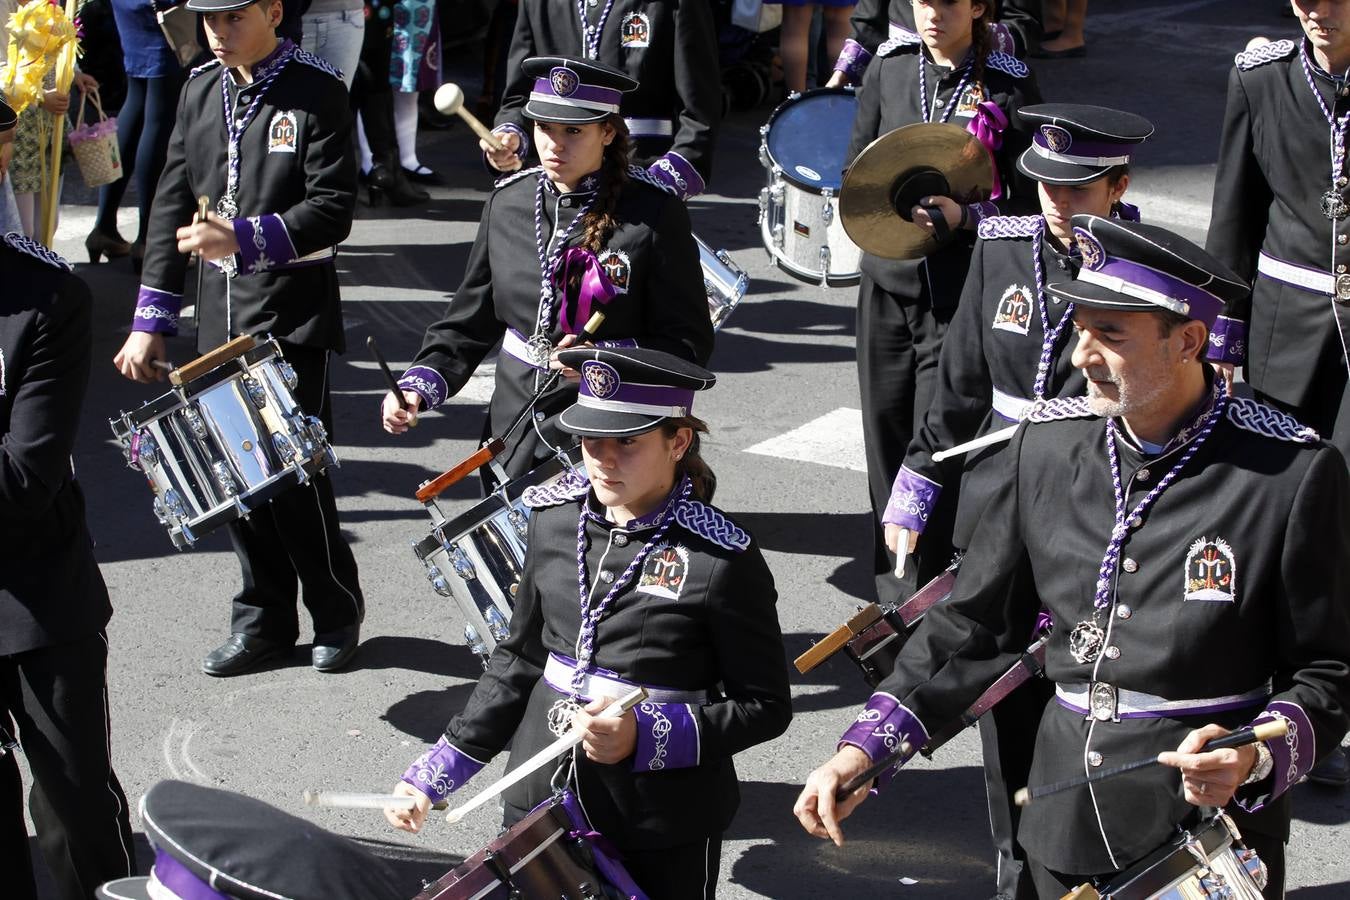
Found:
[[[1102,900],[1262,900],[1265,864],[1220,812],[1099,888]],[[1072,895],[1071,895],[1072,896]]]

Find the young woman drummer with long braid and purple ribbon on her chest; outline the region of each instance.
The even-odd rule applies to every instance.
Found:
[[[620,100],[637,82],[570,57],[526,59],[540,166],[508,175],[483,206],[464,278],[427,328],[400,379],[409,410],[386,394],[385,430],[455,395],[501,341],[487,430],[498,437],[556,368],[556,348],[602,310],[599,345],[649,347],[703,363],[713,349],[698,247],[676,197],[628,165]],[[560,379],[508,439],[508,475],[528,472],[575,441],[555,417],[576,398]]]

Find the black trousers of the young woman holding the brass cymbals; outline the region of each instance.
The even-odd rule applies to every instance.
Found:
[[[905,451],[933,403],[937,359],[956,306],[933,309],[932,300],[896,297],[863,275],[857,294],[857,382],[863,401],[863,447],[872,501],[872,571],[880,603],[895,603],[938,575],[952,559],[956,483],[944,487],[918,552],[895,578],[895,555],[886,548],[882,514]]]

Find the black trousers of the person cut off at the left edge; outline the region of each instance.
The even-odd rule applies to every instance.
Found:
[[[0,725],[32,772],[28,811],[61,900],[88,900],[104,881],[132,874],[127,797],[112,770],[104,634],[0,657]],[[14,754],[0,758],[4,896],[36,897],[30,880],[23,788]],[[16,893],[11,893],[11,892]]]

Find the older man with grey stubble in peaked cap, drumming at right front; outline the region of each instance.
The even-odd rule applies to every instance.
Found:
[[[1227,267],[1138,223],[1075,216],[1073,233],[1083,267],[1048,289],[1075,304],[1088,394],[1019,428],[950,600],[923,618],[795,811],[842,841],[867,785],[836,803],[838,787],[954,719],[1019,658],[1044,603],[1056,700],[1030,784],[1160,752],[1165,765],[1026,807],[1018,841],[1038,896],[1100,887],[1203,810],[1235,803],[1256,812],[1243,839],[1280,897],[1288,791],[1347,725],[1346,463],[1289,416],[1230,397],[1204,362],[1216,316],[1247,290]],[[1204,750],[1274,719],[1285,737]]]

